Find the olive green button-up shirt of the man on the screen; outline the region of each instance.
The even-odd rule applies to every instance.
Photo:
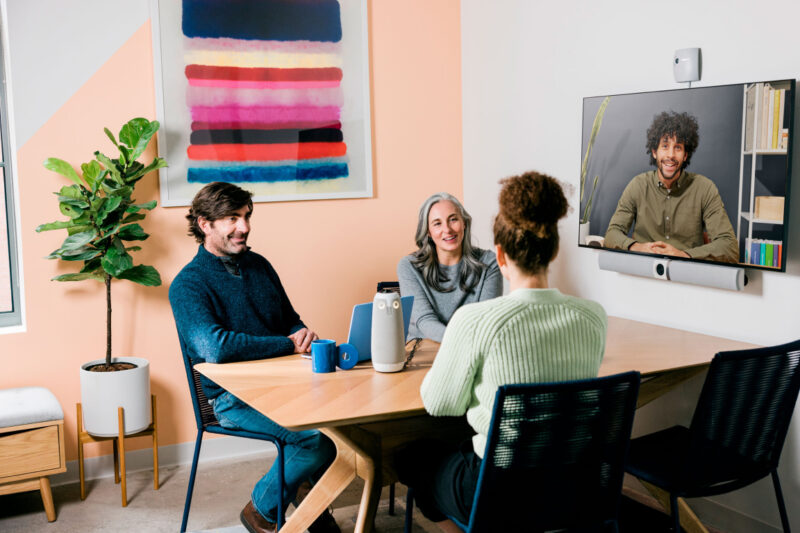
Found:
[[[631,238],[628,231],[634,223]],[[717,186],[700,174],[683,172],[667,189],[657,171],[650,170],[625,187],[608,224],[606,247],[627,250],[635,242],[655,241],[671,244],[695,259],[739,261],[739,244]]]

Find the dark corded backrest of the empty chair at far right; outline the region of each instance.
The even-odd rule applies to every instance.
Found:
[[[733,490],[777,468],[800,391],[800,341],[714,356],[690,427],[685,475]]]

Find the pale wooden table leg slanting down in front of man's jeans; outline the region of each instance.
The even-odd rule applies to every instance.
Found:
[[[336,445],[336,458],[280,529],[282,533],[303,533],[356,477],[353,449],[337,438],[334,431],[323,429],[322,432]]]

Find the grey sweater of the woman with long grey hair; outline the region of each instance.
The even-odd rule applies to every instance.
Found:
[[[410,255],[400,260],[397,265],[400,294],[414,297],[414,308],[411,311],[411,323],[408,327],[409,339],[421,337],[442,342],[445,327],[456,309],[464,304],[496,298],[503,293],[503,278],[494,252],[480,249],[478,251],[481,254],[480,261],[486,268],[481,272],[478,283],[469,292],[464,292],[458,285],[463,261],[452,266],[440,265],[449,279],[442,283],[442,286],[453,287],[453,290],[439,292],[428,286],[422,273],[411,264]]]

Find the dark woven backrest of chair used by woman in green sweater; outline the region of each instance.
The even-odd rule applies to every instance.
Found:
[[[469,531],[616,520],[639,373],[498,389]]]

